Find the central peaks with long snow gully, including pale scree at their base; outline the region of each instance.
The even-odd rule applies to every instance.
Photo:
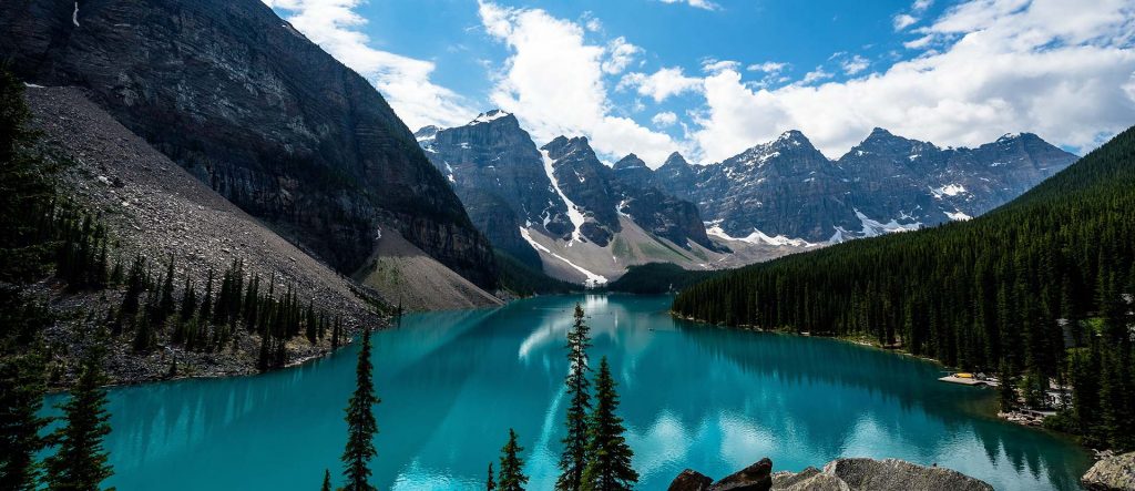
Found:
[[[560,278],[617,276],[649,257],[693,264],[706,261],[690,255],[693,247],[724,248],[706,236],[693,203],[637,179],[636,172],[653,176],[641,160],[629,155],[607,167],[587,138],[561,136],[537,149],[516,118],[498,110],[414,136],[494,246],[533,268],[560,271]],[[624,234],[628,222],[634,230]],[[664,240],[647,248],[667,257],[644,253],[639,240]],[[611,259],[598,268],[603,273],[587,276],[581,270],[594,272],[595,265],[568,257],[583,249]]]

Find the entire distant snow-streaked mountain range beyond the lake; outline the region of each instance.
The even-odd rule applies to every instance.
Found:
[[[596,283],[633,264],[731,268],[966,220],[1077,159],[1033,134],[943,149],[876,128],[838,160],[791,130],[711,164],[675,152],[657,169],[634,154],[607,166],[586,137],[537,147],[501,110],[415,137],[496,247]]]

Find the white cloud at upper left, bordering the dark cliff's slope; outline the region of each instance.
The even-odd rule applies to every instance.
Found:
[[[371,81],[411,129],[469,120],[469,102],[430,81],[434,64],[371,48],[355,12],[361,0],[263,0],[323,50]]]

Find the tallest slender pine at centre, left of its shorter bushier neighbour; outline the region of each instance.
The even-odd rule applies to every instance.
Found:
[[[587,380],[587,348],[591,346],[590,328],[583,320],[583,307],[575,304],[575,322],[568,332],[569,373],[565,384],[571,401],[568,406],[565,425],[568,434],[561,440],[564,445],[560,456],[560,479],[556,489],[575,491],[583,481],[583,468],[587,466],[587,414],[591,409],[591,396]]]

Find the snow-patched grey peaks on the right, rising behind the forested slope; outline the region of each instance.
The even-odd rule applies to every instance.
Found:
[[[832,161],[793,130],[708,166],[675,154],[637,179],[698,203],[712,235],[835,243],[976,217],[1076,159],[1033,134],[942,149],[876,128]]]

